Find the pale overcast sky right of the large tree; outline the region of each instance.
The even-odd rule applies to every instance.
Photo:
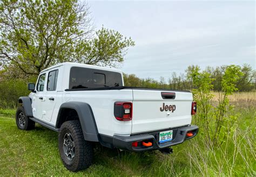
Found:
[[[187,66],[256,67],[254,1],[87,1],[96,29],[136,43],[120,69],[139,78],[169,78]]]

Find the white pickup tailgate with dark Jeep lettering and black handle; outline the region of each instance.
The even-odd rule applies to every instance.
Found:
[[[187,91],[133,89],[132,133],[191,124],[192,101]]]

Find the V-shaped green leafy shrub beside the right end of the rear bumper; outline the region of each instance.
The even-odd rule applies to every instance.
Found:
[[[198,102],[198,114],[196,124],[201,128],[201,133],[205,134],[207,141],[211,145],[221,145],[226,134],[234,130],[237,115],[230,112],[233,106],[229,104],[228,96],[237,90],[235,82],[241,76],[240,66],[230,65],[225,68],[221,78],[221,91],[218,94],[218,101],[212,101],[213,80],[210,73],[201,71],[198,66],[192,66],[188,77],[193,80],[193,96]]]

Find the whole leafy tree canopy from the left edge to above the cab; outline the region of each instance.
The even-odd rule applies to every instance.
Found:
[[[113,30],[95,33],[89,13],[77,0],[1,1],[0,65],[37,75],[61,62],[123,62],[134,42]]]

